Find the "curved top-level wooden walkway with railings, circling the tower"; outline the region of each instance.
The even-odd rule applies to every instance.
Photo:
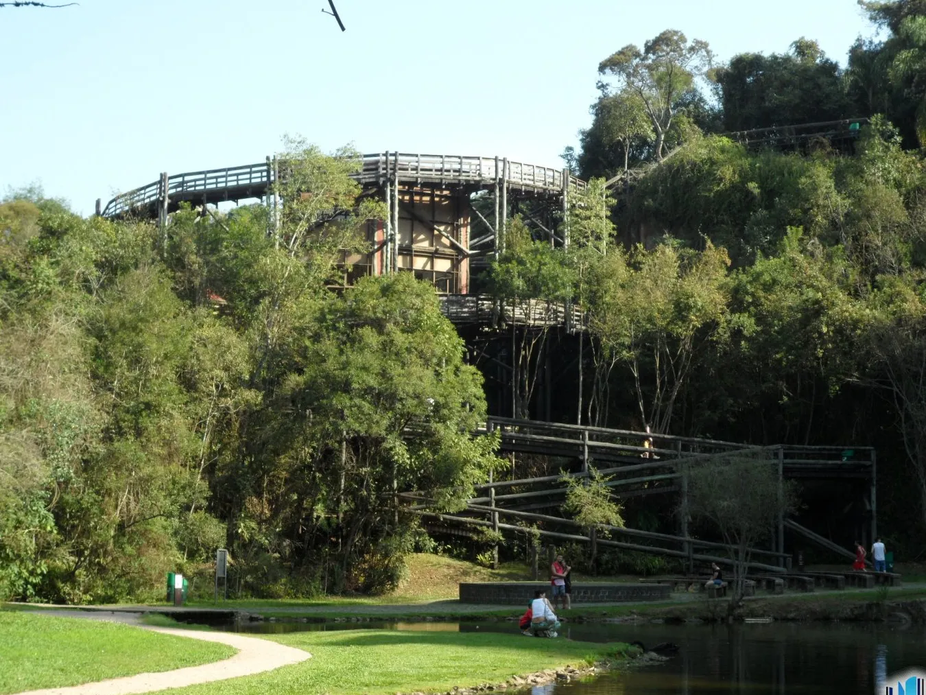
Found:
[[[497,157],[381,152],[363,155],[357,164],[354,179],[364,186],[381,186],[392,180],[483,188],[502,181],[509,190],[554,196],[562,195],[567,186],[568,190],[585,187],[581,179],[567,177],[564,171]],[[189,171],[172,176],[162,174],[155,182],[114,197],[99,212],[109,218],[130,213],[156,217],[159,202],[164,199],[165,181],[170,210],[178,208],[181,202],[217,204],[226,200],[267,196],[269,185],[274,181],[274,166],[267,158],[257,164],[239,167]]]

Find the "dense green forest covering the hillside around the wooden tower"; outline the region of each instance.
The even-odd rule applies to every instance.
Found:
[[[573,422],[876,446],[882,528],[912,557],[926,1],[862,5],[882,39],[859,39],[845,69],[805,38],[719,65],[675,31],[605,57],[564,153],[589,181],[561,221],[569,244],[515,218],[483,282],[585,311]],[[722,134],[843,119],[865,120],[848,147]],[[455,509],[503,464],[473,434],[482,374],[432,286],[400,272],[329,289],[384,214],[350,179],[355,154],[288,141],[277,226],[261,205],[183,209],[162,236],[7,194],[0,597],[149,598],[168,569],[208,575],[218,547],[244,595],[382,591],[433,546],[394,491]],[[522,346],[521,414],[537,349]]]

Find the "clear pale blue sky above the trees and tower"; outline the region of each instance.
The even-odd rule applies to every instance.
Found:
[[[335,4],[347,32],[327,0],[0,8],[0,195],[39,182],[86,214],[160,171],[260,161],[283,133],[561,166],[625,44],[678,29],[727,60],[806,35],[845,63],[873,32],[855,0]]]

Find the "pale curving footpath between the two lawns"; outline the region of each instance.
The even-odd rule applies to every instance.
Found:
[[[62,612],[56,611],[55,614],[60,615]],[[105,616],[99,614],[83,613],[83,615],[93,615],[95,619],[106,620]],[[121,620],[117,618],[117,620],[119,622],[131,622],[131,620],[126,620],[124,617]],[[141,629],[161,632],[165,635],[202,639],[206,642],[220,642],[234,647],[238,650],[238,653],[224,661],[204,663],[200,666],[187,666],[186,668],[161,673],[110,678],[96,683],[84,683],[80,686],[70,686],[68,688],[28,690],[17,695],[133,695],[134,693],[154,692],[155,690],[168,688],[183,688],[197,683],[211,683],[226,678],[253,676],[254,674],[272,671],[281,666],[304,662],[312,658],[312,655],[307,651],[271,642],[269,639],[245,637],[230,632],[200,632],[169,627],[150,627],[138,625],[137,623],[135,625]]]

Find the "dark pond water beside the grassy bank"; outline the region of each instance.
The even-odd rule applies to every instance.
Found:
[[[230,625],[222,625],[230,627]],[[344,629],[512,632],[512,623],[288,623],[239,625],[247,632]],[[551,684],[531,695],[720,695],[729,693],[875,692],[876,682],[895,672],[926,668],[926,629],[888,625],[564,625],[561,638],[607,642],[634,640],[653,646],[677,644],[665,663],[629,673]],[[525,638],[528,639],[528,638]]]

